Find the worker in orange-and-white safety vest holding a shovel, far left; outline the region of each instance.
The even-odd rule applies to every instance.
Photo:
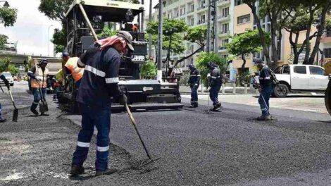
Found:
[[[46,87],[47,87],[47,75],[49,74],[49,69],[46,68],[48,61],[46,59],[42,59],[36,66],[32,67],[27,75],[31,78],[31,87],[33,94],[33,102],[30,107],[30,111],[34,113],[36,116],[39,115],[37,106],[39,101],[42,101],[41,106],[44,107],[44,103],[46,102]],[[48,116],[45,112],[47,109],[40,108],[42,116]]]

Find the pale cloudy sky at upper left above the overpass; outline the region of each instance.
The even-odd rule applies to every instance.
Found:
[[[13,27],[0,25],[0,33],[9,37],[8,41],[18,42],[19,54],[52,55],[54,46],[49,42],[54,28],[61,28],[61,23],[49,20],[38,11],[39,0],[7,0],[13,8],[18,9],[18,19]],[[145,0],[148,13],[149,0]],[[158,1],[154,0],[153,5]],[[52,25],[52,26],[51,26]],[[50,49],[49,49],[50,47]]]

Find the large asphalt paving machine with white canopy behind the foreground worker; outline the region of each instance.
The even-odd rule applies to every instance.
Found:
[[[128,98],[130,109],[178,109],[181,104],[179,86],[177,83],[159,82],[158,80],[142,80],[139,66],[146,61],[147,42],[144,32],[138,24],[132,23],[142,14],[141,4],[131,4],[122,1],[109,0],[75,0],[66,13],[67,18],[67,50],[70,56],[80,56],[95,42],[105,25],[116,23],[120,30],[130,32],[134,41],[133,54],[125,54],[121,60],[119,86]],[[96,34],[96,35],[95,35]],[[75,96],[77,89],[72,78],[65,78],[65,89],[58,96],[63,108],[77,111]],[[113,102],[112,110],[123,110],[123,106]]]

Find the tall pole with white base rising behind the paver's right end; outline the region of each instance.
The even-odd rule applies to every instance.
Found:
[[[210,1],[210,0],[209,0]],[[162,38],[163,38],[163,0],[158,1],[158,81],[162,81],[162,69],[161,69],[161,63],[162,63]]]

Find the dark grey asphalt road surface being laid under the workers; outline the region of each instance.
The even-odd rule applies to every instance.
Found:
[[[32,96],[21,90],[20,103],[29,105]],[[206,101],[198,109],[134,113],[146,146],[161,158],[144,168],[127,114],[112,114],[109,164],[118,172],[93,176],[93,137],[87,173],[70,178],[80,116],[60,116],[50,96],[50,116],[20,109],[18,123],[0,124],[0,185],[331,185],[330,116],[271,108],[278,120],[258,122],[258,107],[224,104],[205,113]]]

